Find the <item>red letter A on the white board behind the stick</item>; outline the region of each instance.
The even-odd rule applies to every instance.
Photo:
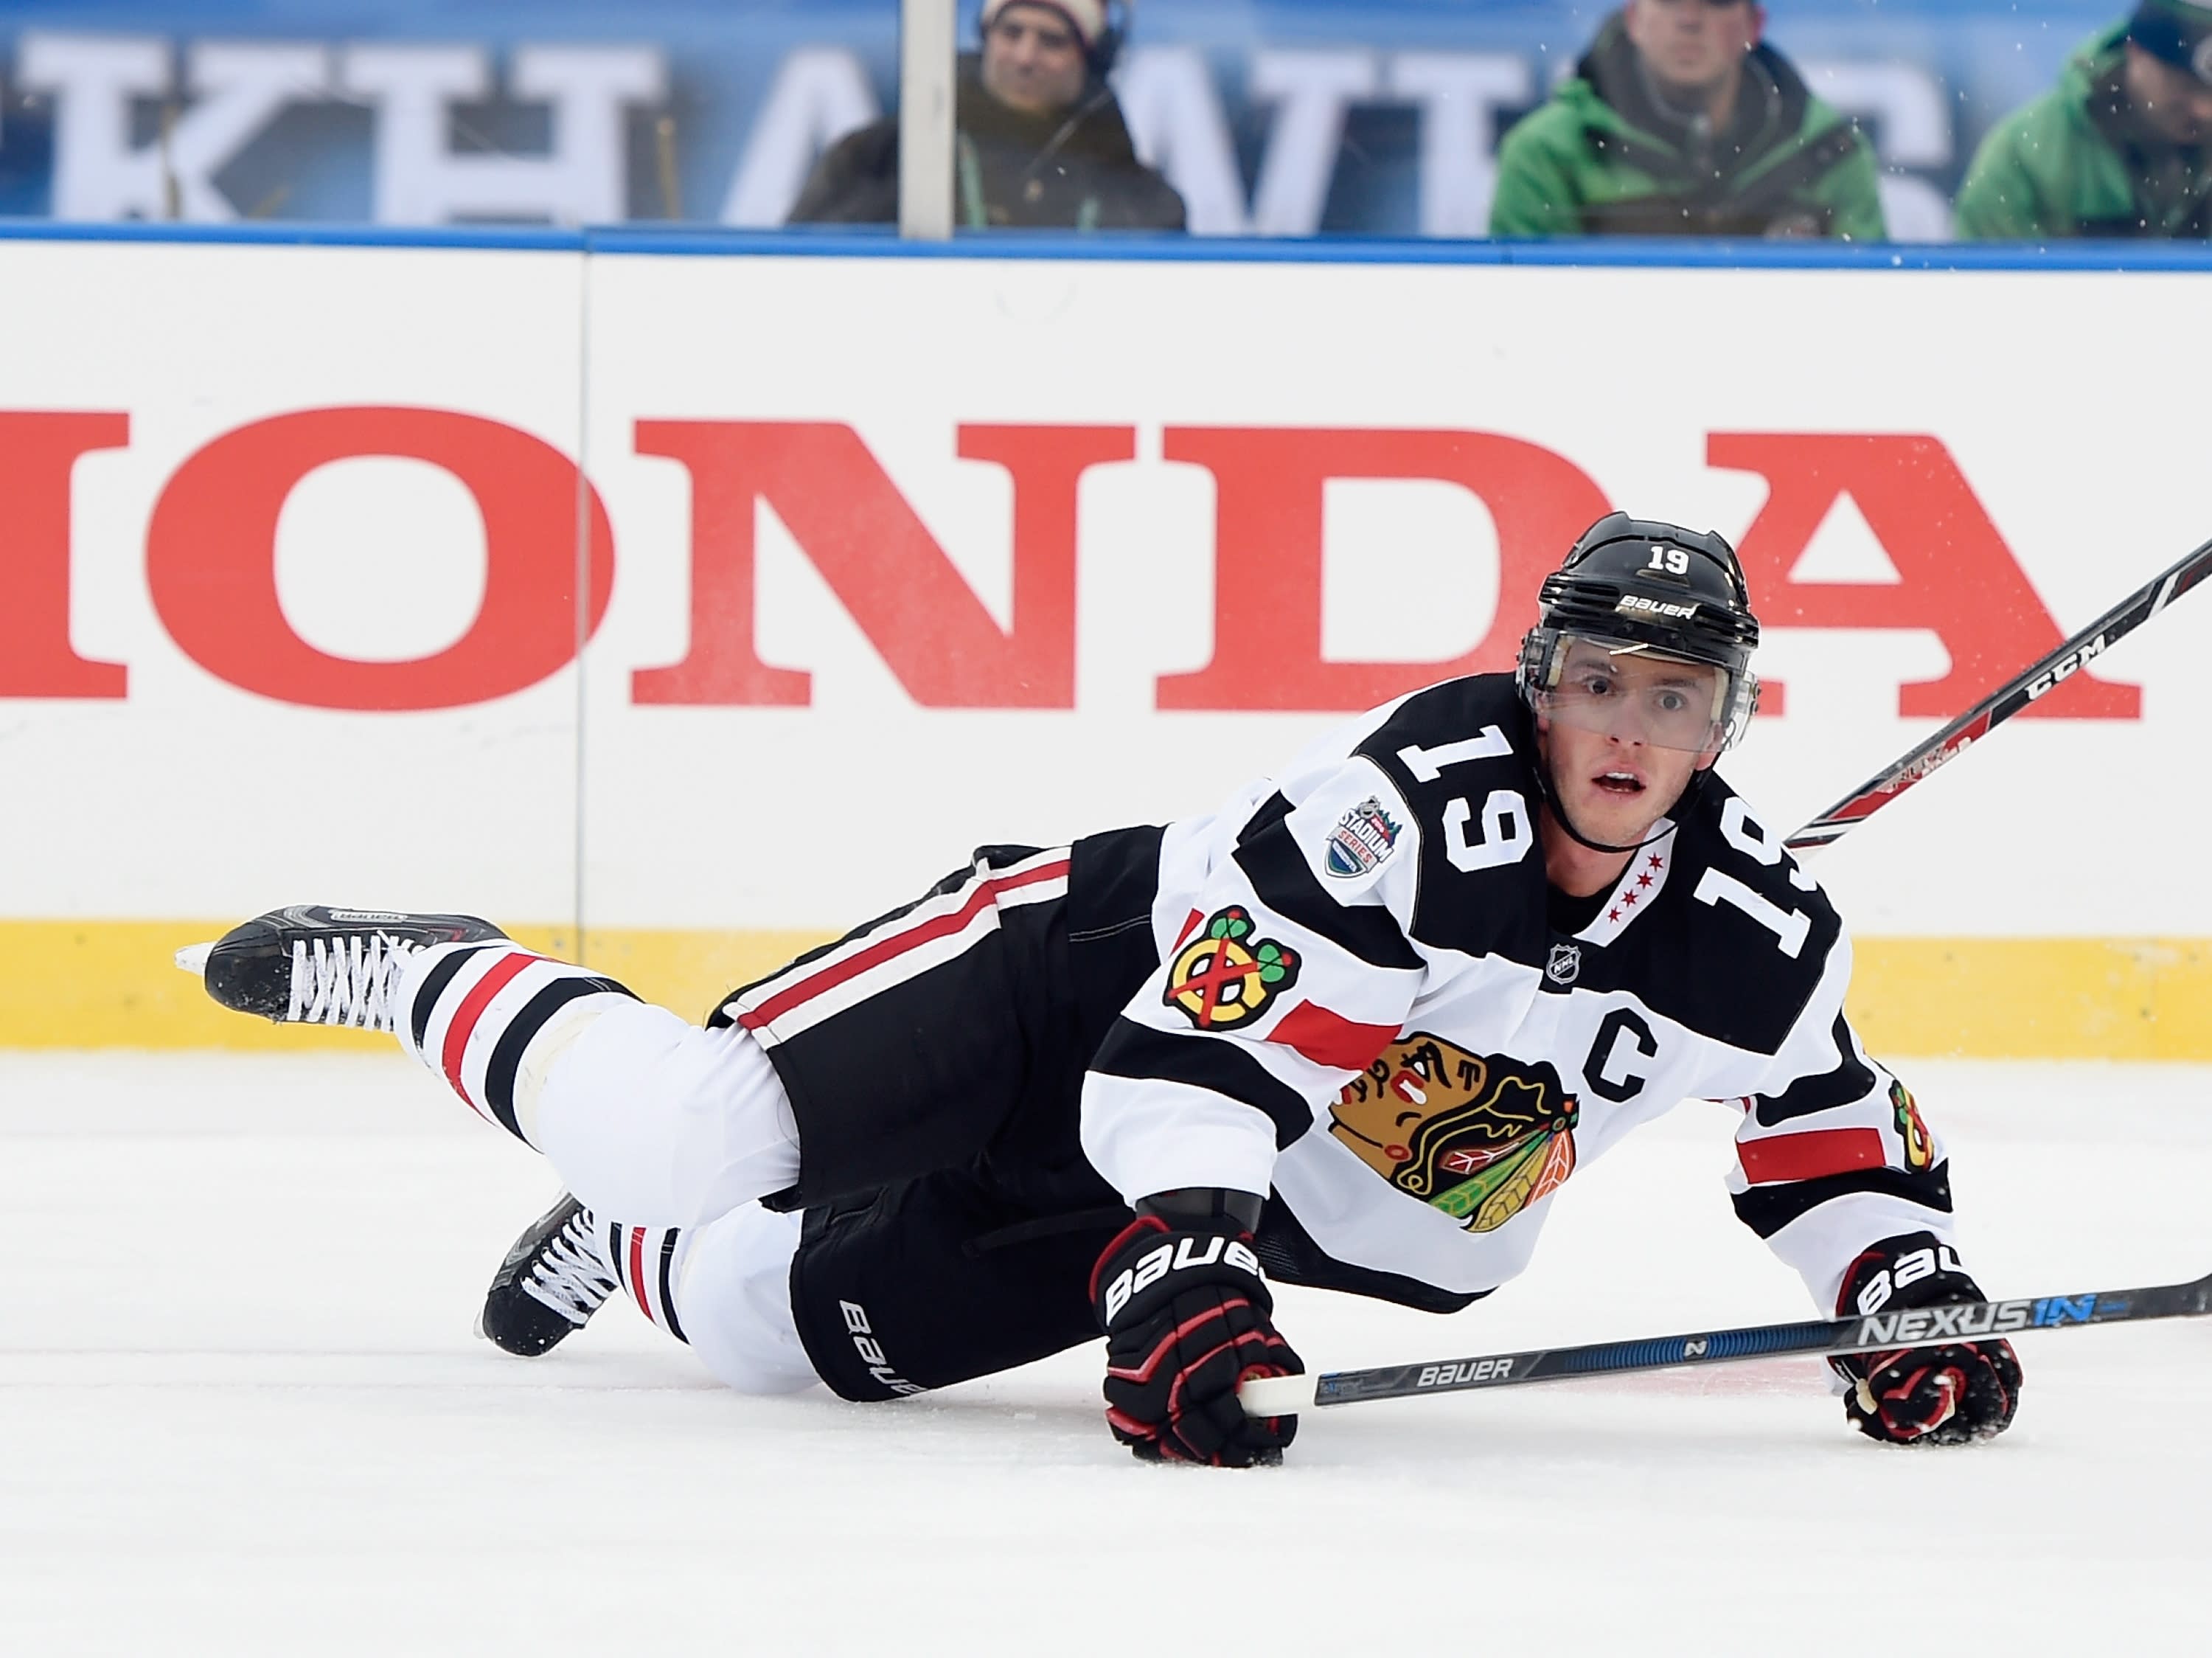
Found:
[[[1714,432],[1705,458],[1767,480],[1767,505],[1739,549],[1765,626],[1929,629],[1942,640],[1951,673],[1900,686],[1900,715],[1951,719],[2062,640],[1940,441]],[[1845,494],[1898,567],[1900,584],[1792,576],[1820,520]],[[1763,684],[1761,711],[1783,711],[1783,688],[1774,680]],[[2022,713],[2139,719],[2143,693],[2084,671]]]

